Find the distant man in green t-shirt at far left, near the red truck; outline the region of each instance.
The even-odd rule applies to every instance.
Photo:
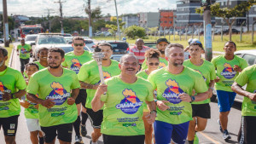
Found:
[[[23,74],[26,64],[29,62],[30,54],[32,53],[31,46],[25,43],[25,39],[20,40],[17,46],[17,55],[20,55],[20,72]]]

